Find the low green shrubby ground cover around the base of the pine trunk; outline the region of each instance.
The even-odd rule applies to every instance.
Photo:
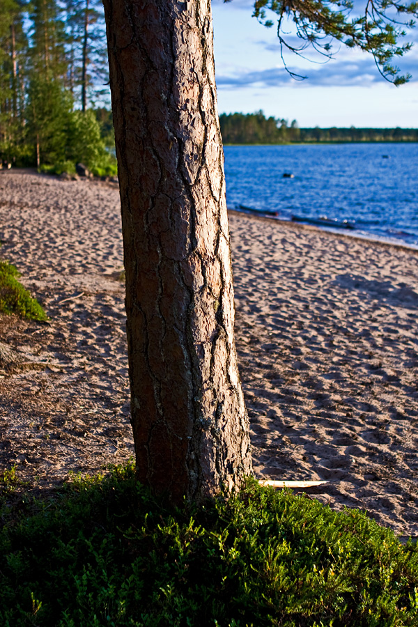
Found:
[[[173,510],[130,466],[22,494],[1,509],[3,627],[418,624],[417,549],[359,511],[252,479]]]

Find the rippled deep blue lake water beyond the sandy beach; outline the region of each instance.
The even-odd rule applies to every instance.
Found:
[[[418,246],[418,144],[225,146],[226,201]],[[294,178],[284,178],[292,173]]]

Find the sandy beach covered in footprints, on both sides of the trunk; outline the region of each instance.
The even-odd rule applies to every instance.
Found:
[[[118,188],[0,172],[0,258],[48,324],[0,316],[0,472],[47,489],[133,454]],[[418,536],[418,252],[230,213],[242,385],[260,479]]]

